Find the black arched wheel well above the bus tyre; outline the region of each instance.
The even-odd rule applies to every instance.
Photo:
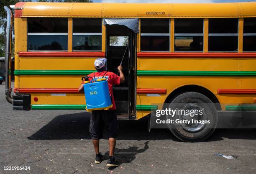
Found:
[[[216,109],[221,110],[221,106],[220,106],[220,102],[219,102],[218,98],[210,90],[207,90],[206,88],[198,86],[198,85],[185,85],[185,86],[177,88],[171,94],[168,95],[168,97],[166,98],[164,103],[170,103],[175,97],[177,97],[178,95],[180,95],[184,92],[201,93],[201,94],[205,95],[206,97],[208,97],[213,103],[217,103],[218,105],[216,105],[216,107],[217,107]]]

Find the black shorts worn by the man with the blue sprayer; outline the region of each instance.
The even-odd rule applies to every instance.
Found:
[[[108,138],[117,138],[118,122],[115,110],[93,110],[90,120],[90,134],[92,139],[103,137],[103,129],[108,132]]]

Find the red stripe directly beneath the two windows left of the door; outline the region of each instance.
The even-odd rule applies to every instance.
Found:
[[[105,52],[19,52],[20,57],[105,57]]]

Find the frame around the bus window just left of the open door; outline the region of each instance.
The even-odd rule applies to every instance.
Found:
[[[102,51],[102,30],[103,30],[103,24],[102,24],[102,21],[103,21],[103,18],[100,18],[101,19],[101,33],[74,33],[73,32],[73,19],[72,18],[72,52],[99,52],[99,51]],[[73,49],[73,36],[101,36],[101,49],[100,50],[74,50]]]

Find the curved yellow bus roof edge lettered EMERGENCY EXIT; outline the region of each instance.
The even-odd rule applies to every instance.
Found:
[[[20,2],[15,17],[235,18],[256,17],[247,3],[40,3]]]

